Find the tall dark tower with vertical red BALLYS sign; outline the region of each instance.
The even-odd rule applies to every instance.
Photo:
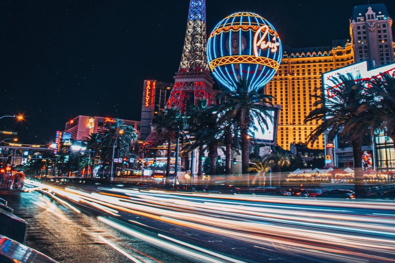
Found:
[[[140,139],[145,140],[150,135],[152,120],[165,109],[171,87],[173,87],[173,83],[156,80],[144,81]]]

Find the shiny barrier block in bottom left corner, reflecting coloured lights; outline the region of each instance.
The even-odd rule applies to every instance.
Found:
[[[0,262],[56,263],[57,261],[37,250],[0,235]]]

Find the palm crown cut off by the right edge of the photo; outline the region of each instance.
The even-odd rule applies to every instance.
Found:
[[[367,84],[370,88],[363,94],[366,107],[360,110],[368,111],[372,128],[381,129],[395,142],[395,75],[385,73],[381,77],[372,77]]]

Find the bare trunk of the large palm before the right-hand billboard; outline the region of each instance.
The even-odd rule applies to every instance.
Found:
[[[365,197],[365,180],[362,169],[362,141],[355,140],[352,142],[352,154],[354,156],[354,187],[355,197]]]

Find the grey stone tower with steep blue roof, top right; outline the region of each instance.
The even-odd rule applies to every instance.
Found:
[[[394,62],[391,26],[385,4],[354,6],[350,35],[355,62],[374,60],[377,66]]]

